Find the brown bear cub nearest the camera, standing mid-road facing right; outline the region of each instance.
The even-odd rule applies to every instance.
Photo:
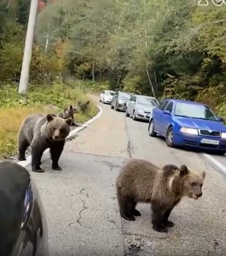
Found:
[[[198,199],[202,196],[205,172],[196,174],[186,165],[165,165],[162,169],[151,162],[132,159],[127,162],[117,177],[117,199],[122,218],[134,221],[140,216],[137,203],[151,203],[153,229],[167,232],[174,226],[168,221],[172,209],[183,196]]]

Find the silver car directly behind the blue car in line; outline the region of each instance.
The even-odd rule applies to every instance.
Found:
[[[127,104],[126,116],[132,116],[133,120],[149,121],[153,109],[158,104],[158,100],[155,97],[134,94]]]

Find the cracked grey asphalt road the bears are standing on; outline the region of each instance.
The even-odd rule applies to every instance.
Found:
[[[225,176],[201,153],[168,148],[161,138],[149,137],[148,123],[99,106],[102,116],[67,142],[62,172],[51,170],[48,154],[46,172],[31,172],[48,218],[51,255],[225,255]],[[202,198],[183,199],[170,216],[175,227],[166,234],[152,229],[148,204],[137,205],[142,216],[136,221],[119,216],[115,181],[131,157],[206,172]]]

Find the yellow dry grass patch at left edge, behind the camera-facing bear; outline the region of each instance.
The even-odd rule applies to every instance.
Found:
[[[32,113],[46,113],[41,107],[23,106],[15,108],[0,108],[0,148],[1,157],[8,157],[18,150],[18,130],[26,116]]]

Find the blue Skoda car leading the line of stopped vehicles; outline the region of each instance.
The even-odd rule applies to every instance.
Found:
[[[165,99],[153,109],[149,136],[163,136],[168,147],[193,147],[226,153],[226,126],[202,103]]]

